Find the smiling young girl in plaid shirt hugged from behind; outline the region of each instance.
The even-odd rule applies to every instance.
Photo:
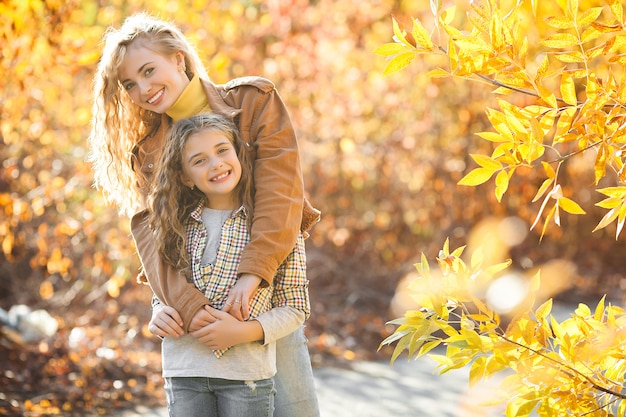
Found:
[[[149,221],[159,255],[213,307],[226,303],[238,279],[253,193],[252,163],[228,119],[200,114],[174,125],[150,196]],[[170,416],[272,416],[275,346],[267,336],[291,333],[309,314],[304,240],[298,237],[272,285],[255,293],[248,321],[215,312],[196,334],[178,338],[158,299],[154,309],[150,328],[166,336]]]

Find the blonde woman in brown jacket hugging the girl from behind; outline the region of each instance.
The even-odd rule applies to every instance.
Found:
[[[247,317],[252,295],[272,284],[300,229],[305,232],[319,219],[319,212],[304,199],[296,137],[278,92],[260,77],[214,84],[180,30],[146,14],[129,17],[104,40],[94,78],[89,138],[95,184],[120,211],[132,215],[145,278],[172,312],[174,330],[181,334],[197,334],[211,320],[211,310],[205,308],[205,295],[159,256],[144,210],[145,196],[172,122],[212,112],[238,126],[254,160],[255,210],[250,243],[238,265],[239,279],[223,310],[238,319]],[[318,416],[303,326],[280,339],[276,348],[274,415]]]

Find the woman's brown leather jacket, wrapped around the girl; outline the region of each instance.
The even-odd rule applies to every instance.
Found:
[[[298,230],[306,234],[320,218],[320,212],[304,197],[291,120],[274,84],[267,79],[243,77],[224,85],[202,83],[211,110],[234,120],[255,161],[254,221],[238,272],[258,275],[271,283],[276,269],[293,249]],[[160,127],[133,149],[133,168],[144,195],[170,124],[164,115]],[[154,294],[179,312],[187,330],[207,299],[193,283],[161,261],[145,210],[132,217],[131,232]]]

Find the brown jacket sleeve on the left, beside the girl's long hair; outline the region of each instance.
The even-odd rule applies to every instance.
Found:
[[[183,319],[183,329],[187,332],[193,316],[209,303],[207,298],[185,276],[161,260],[154,234],[148,227],[147,211],[132,217],[131,233],[152,292],[163,304],[178,311]]]

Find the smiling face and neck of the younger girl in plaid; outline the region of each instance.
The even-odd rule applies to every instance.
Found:
[[[241,163],[224,133],[205,130],[189,136],[182,157],[183,183],[202,191],[209,208],[238,207],[235,188],[241,179]]]

